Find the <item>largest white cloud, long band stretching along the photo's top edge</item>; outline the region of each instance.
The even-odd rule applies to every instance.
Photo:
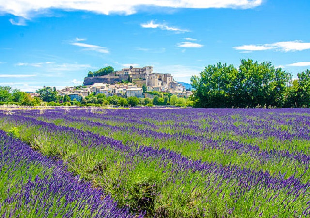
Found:
[[[263,0],[1,0],[0,12],[27,18],[46,13],[49,9],[130,15],[145,7],[248,9],[257,7],[262,2]]]

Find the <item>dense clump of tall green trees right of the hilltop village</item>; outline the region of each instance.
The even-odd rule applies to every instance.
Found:
[[[272,62],[242,59],[237,69],[218,62],[191,77],[195,107],[310,107],[310,71],[292,75]]]

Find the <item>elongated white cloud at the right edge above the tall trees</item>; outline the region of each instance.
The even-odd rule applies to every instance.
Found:
[[[276,50],[276,51],[289,52],[289,51],[302,51],[310,49],[310,43],[296,40],[296,41],[285,41],[263,45],[244,45],[233,48],[236,50],[243,50],[243,51]]]

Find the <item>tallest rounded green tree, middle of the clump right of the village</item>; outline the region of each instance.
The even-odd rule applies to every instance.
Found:
[[[272,62],[258,63],[241,60],[236,97],[240,106],[257,105],[282,107],[286,87],[291,75],[281,68],[275,69]]]

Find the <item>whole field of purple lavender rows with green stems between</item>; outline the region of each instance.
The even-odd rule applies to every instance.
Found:
[[[0,111],[1,217],[310,217],[310,109]]]

